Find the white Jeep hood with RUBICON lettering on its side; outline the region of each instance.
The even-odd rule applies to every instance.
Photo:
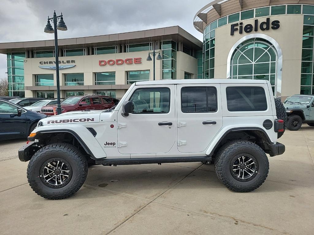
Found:
[[[99,111],[73,111],[66,112],[56,116],[47,117],[42,121],[42,125],[55,125],[55,124],[82,124],[82,123],[99,123]]]

